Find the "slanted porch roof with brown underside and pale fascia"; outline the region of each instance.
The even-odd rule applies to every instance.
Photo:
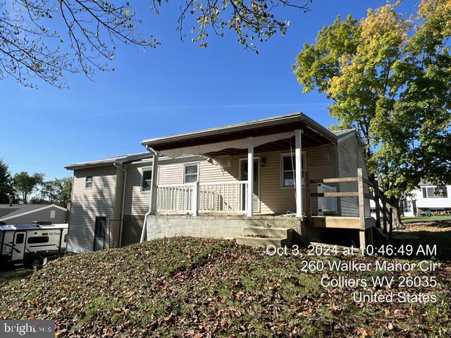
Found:
[[[304,113],[299,112],[236,125],[199,130],[197,132],[144,139],[142,145],[152,147],[152,149],[164,154],[165,151],[171,151],[172,149],[190,149],[205,144],[226,144],[226,142],[230,142],[230,146],[225,146],[223,149],[215,149],[213,147],[204,155],[240,155],[247,153],[247,148],[244,149],[242,146],[237,146],[236,140],[246,139],[247,137],[264,139],[263,137],[268,137],[268,135],[280,135],[279,138],[273,137],[271,139],[271,137],[268,137],[268,142],[256,146],[254,151],[261,153],[290,149],[290,146],[294,147],[294,135],[291,136],[289,134],[294,130],[303,130],[302,147],[304,148],[337,143],[337,136],[333,132],[316,123]]]

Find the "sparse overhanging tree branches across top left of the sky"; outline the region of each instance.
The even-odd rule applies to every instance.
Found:
[[[223,37],[231,31],[238,43],[257,51],[259,42],[266,42],[277,32],[285,35],[288,21],[279,18],[278,7],[306,12],[311,1],[185,0],[176,3],[181,5],[177,30],[183,40],[185,25],[190,25],[192,42],[201,47],[208,46],[210,35]],[[140,33],[140,27],[146,15],[159,14],[168,0],[151,0],[152,12],[140,15],[133,11],[131,2],[0,2],[0,79],[10,76],[20,84],[34,86],[33,77],[38,77],[65,87],[67,73],[84,73],[91,78],[97,71],[114,70],[108,63],[115,58],[119,44],[156,48],[161,41]]]

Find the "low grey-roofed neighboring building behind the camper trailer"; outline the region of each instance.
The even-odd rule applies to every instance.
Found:
[[[0,204],[0,223],[5,225],[68,221],[68,209],[55,204]]]

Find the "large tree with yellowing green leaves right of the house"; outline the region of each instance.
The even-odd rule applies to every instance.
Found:
[[[451,1],[423,0],[409,20],[396,8],[338,17],[304,45],[295,75],[304,92],[331,99],[339,126],[358,130],[400,223],[402,194],[451,181]]]

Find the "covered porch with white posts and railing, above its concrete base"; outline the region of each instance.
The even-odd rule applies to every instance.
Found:
[[[152,151],[150,214],[305,215],[304,173],[336,176],[335,135],[302,114],[142,142]],[[316,163],[324,152],[323,163]],[[321,154],[318,154],[321,152]],[[309,153],[313,154],[311,162]],[[202,156],[194,182],[173,184],[159,173],[159,156]],[[219,174],[221,172],[221,175]],[[160,175],[160,177],[159,177]],[[321,175],[321,176],[319,176]],[[325,176],[324,176],[325,175]],[[168,182],[168,184],[166,184]],[[252,193],[249,193],[252,192]]]

